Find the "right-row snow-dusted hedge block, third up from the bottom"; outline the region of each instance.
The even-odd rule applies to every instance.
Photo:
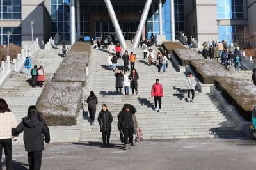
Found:
[[[189,65],[189,62],[203,57],[193,49],[173,49],[173,54],[179,61],[181,66]]]

